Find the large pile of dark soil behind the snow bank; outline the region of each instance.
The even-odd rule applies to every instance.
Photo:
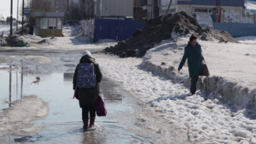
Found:
[[[214,31],[213,27],[202,28],[195,17],[181,12],[149,20],[147,27],[135,31],[130,39],[119,42],[116,46],[107,47],[104,52],[120,57],[143,57],[147,50],[154,47],[154,44],[172,39],[173,32],[180,36],[196,33],[202,40],[210,40],[214,37],[222,42],[237,42],[228,32]]]

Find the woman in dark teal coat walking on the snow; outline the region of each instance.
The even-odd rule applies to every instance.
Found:
[[[191,94],[195,94],[198,76],[202,75],[202,60],[204,59],[202,57],[201,46],[198,44],[197,40],[198,37],[195,34],[191,35],[178,68],[180,72],[180,69],[187,60],[189,77],[191,78]]]

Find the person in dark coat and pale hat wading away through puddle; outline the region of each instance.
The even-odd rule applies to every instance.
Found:
[[[92,88],[79,88],[77,85],[77,68],[73,77],[73,90],[76,90],[76,98],[79,100],[80,108],[82,108],[82,120],[83,120],[83,130],[87,131],[89,112],[90,112],[90,125],[93,127],[95,124],[96,116],[96,102],[98,100],[99,94],[99,83],[102,80],[102,72],[98,67],[98,63],[95,62],[95,58],[91,57],[90,51],[84,51],[83,57],[80,59],[80,64],[92,63],[95,68],[96,74],[96,85]]]

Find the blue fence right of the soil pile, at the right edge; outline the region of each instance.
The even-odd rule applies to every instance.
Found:
[[[256,35],[256,24],[214,23],[213,27],[228,31],[233,37]]]

